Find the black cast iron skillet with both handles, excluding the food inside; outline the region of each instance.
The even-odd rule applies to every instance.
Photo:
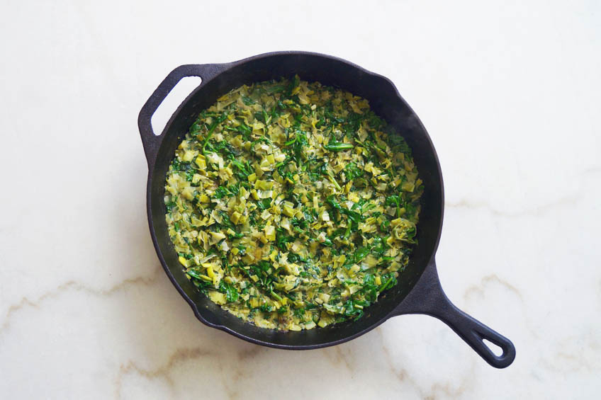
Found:
[[[169,239],[163,197],[165,174],[175,149],[201,110],[242,84],[293,74],[308,81],[344,88],[369,100],[373,111],[394,125],[410,145],[425,190],[417,225],[418,244],[409,265],[398,279],[398,285],[383,294],[357,321],[309,331],[280,332],[245,323],[196,290],[186,278]],[[184,76],[200,76],[202,83],[179,105],[161,135],[155,135],[150,118]],[[344,343],[371,331],[391,316],[428,314],[449,325],[493,367],[507,367],[514,360],[515,347],[509,339],[461,312],[442,291],[434,261],[444,209],[438,157],[425,127],[400,97],[393,83],[385,77],[344,59],[310,52],[272,52],[226,64],[182,65],[174,69],[152,93],[137,122],[148,161],[146,196],[152,241],[165,273],[204,324],[259,345],[300,350]],[[500,346],[502,355],[495,355],[483,339]]]

